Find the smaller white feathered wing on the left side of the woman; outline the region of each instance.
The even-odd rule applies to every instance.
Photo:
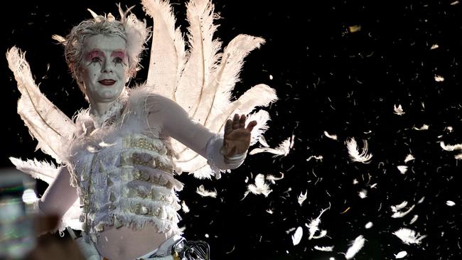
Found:
[[[18,101],[18,114],[28,126],[31,136],[37,139],[37,149],[52,156],[58,163],[68,157],[68,145],[75,133],[75,124],[40,92],[33,81],[31,69],[24,58],[24,53],[14,47],[6,53],[9,68],[14,73],[21,98]],[[28,173],[33,178],[44,180],[50,184],[58,174],[58,168],[53,163],[45,161],[21,161],[10,158],[18,170]],[[79,222],[80,200],[77,200],[65,213],[58,227],[63,231],[66,226],[72,229],[82,229]]]

